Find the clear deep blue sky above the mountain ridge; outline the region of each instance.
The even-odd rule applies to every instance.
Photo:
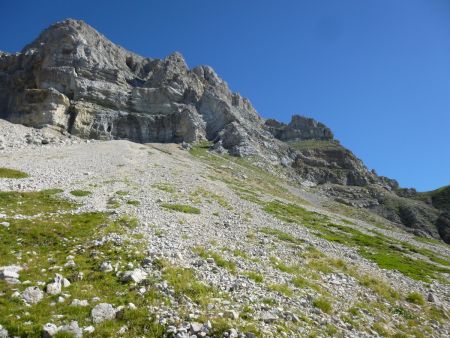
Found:
[[[450,184],[449,0],[0,1],[0,50],[83,19],[149,57],[209,64],[264,117],[332,128],[381,175]]]

